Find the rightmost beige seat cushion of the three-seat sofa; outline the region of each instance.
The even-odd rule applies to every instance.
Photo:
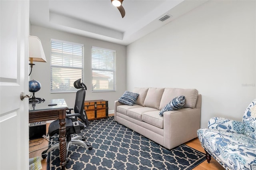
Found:
[[[158,115],[159,111],[150,111],[142,114],[142,121],[154,125],[159,128],[164,128],[164,117]]]

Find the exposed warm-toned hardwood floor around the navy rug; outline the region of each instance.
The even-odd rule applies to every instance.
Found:
[[[48,129],[49,124],[46,125],[46,129]],[[188,142],[185,143],[186,145],[190,146],[191,148],[194,148],[196,150],[199,150],[200,152],[204,152],[204,148],[202,148],[200,141],[198,140],[198,138],[192,139]],[[41,138],[41,139],[34,139],[30,141],[29,146],[32,146],[29,148],[29,151],[34,151],[34,150],[38,150],[40,148],[43,147],[48,147],[48,140],[46,140],[46,138]],[[29,154],[30,158],[39,156],[41,158],[41,164],[42,164],[42,170],[46,170],[47,167],[47,158],[46,159],[42,159],[41,157],[41,153],[42,151],[44,151],[46,148],[35,151],[35,152],[31,152]],[[208,163],[206,160],[204,162],[202,162],[201,164],[199,164],[198,166],[196,166],[194,168],[194,170],[224,170],[224,168],[214,159],[212,158],[212,160],[210,161],[210,163]]]

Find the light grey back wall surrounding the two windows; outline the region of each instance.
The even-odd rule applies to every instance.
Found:
[[[52,38],[81,43],[84,44],[84,83],[87,86],[85,99],[107,100],[108,110],[110,113],[114,113],[114,101],[119,99],[126,90],[126,46],[33,25],[31,26],[31,35],[37,36],[41,40],[47,60],[47,63],[34,62],[36,65],[34,65],[29,77],[41,83],[42,87],[40,91],[35,93],[36,97],[44,99],[65,99],[68,107],[74,107],[76,93],[50,93],[50,40]],[[92,46],[116,50],[116,92],[92,92]]]

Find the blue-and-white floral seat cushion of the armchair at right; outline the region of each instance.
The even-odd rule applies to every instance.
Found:
[[[199,129],[198,138],[206,151],[226,169],[255,169],[256,140],[244,134]]]

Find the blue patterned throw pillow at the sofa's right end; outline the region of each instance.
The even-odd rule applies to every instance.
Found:
[[[172,99],[170,103],[168,103],[163,109],[160,111],[159,115],[164,116],[164,112],[166,111],[174,111],[181,109],[185,104],[185,96],[178,96]]]

